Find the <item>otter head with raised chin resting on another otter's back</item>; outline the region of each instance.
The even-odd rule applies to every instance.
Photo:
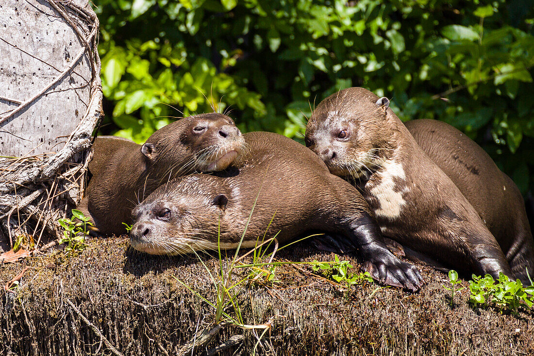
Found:
[[[226,169],[245,148],[245,138],[226,115],[208,113],[169,123],[141,146],[148,166],[169,176]],[[163,172],[161,172],[163,173]]]

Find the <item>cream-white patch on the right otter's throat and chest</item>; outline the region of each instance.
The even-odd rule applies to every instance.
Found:
[[[376,187],[371,189],[371,194],[378,199],[380,207],[375,209],[376,216],[383,218],[396,219],[400,216],[400,211],[406,200],[403,195],[409,191],[408,188],[404,188],[400,191],[395,191],[394,177],[399,179],[405,179],[404,169],[401,164],[387,160],[383,165],[382,181]]]

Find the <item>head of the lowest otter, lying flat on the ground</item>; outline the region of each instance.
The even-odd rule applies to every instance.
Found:
[[[217,249],[229,196],[220,177],[193,174],[172,180],[135,207],[130,243],[150,254]],[[220,239],[223,244],[222,233]]]

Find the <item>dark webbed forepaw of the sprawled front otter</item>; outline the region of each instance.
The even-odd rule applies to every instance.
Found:
[[[392,285],[412,292],[420,290],[425,284],[425,280],[423,280],[417,267],[395,257],[366,261],[365,270],[380,284]]]

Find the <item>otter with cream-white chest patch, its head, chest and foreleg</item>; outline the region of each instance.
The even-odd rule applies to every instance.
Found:
[[[389,100],[349,88],[312,113],[306,145],[352,180],[384,236],[406,256],[439,269],[513,277],[496,239],[447,175],[389,109]]]

